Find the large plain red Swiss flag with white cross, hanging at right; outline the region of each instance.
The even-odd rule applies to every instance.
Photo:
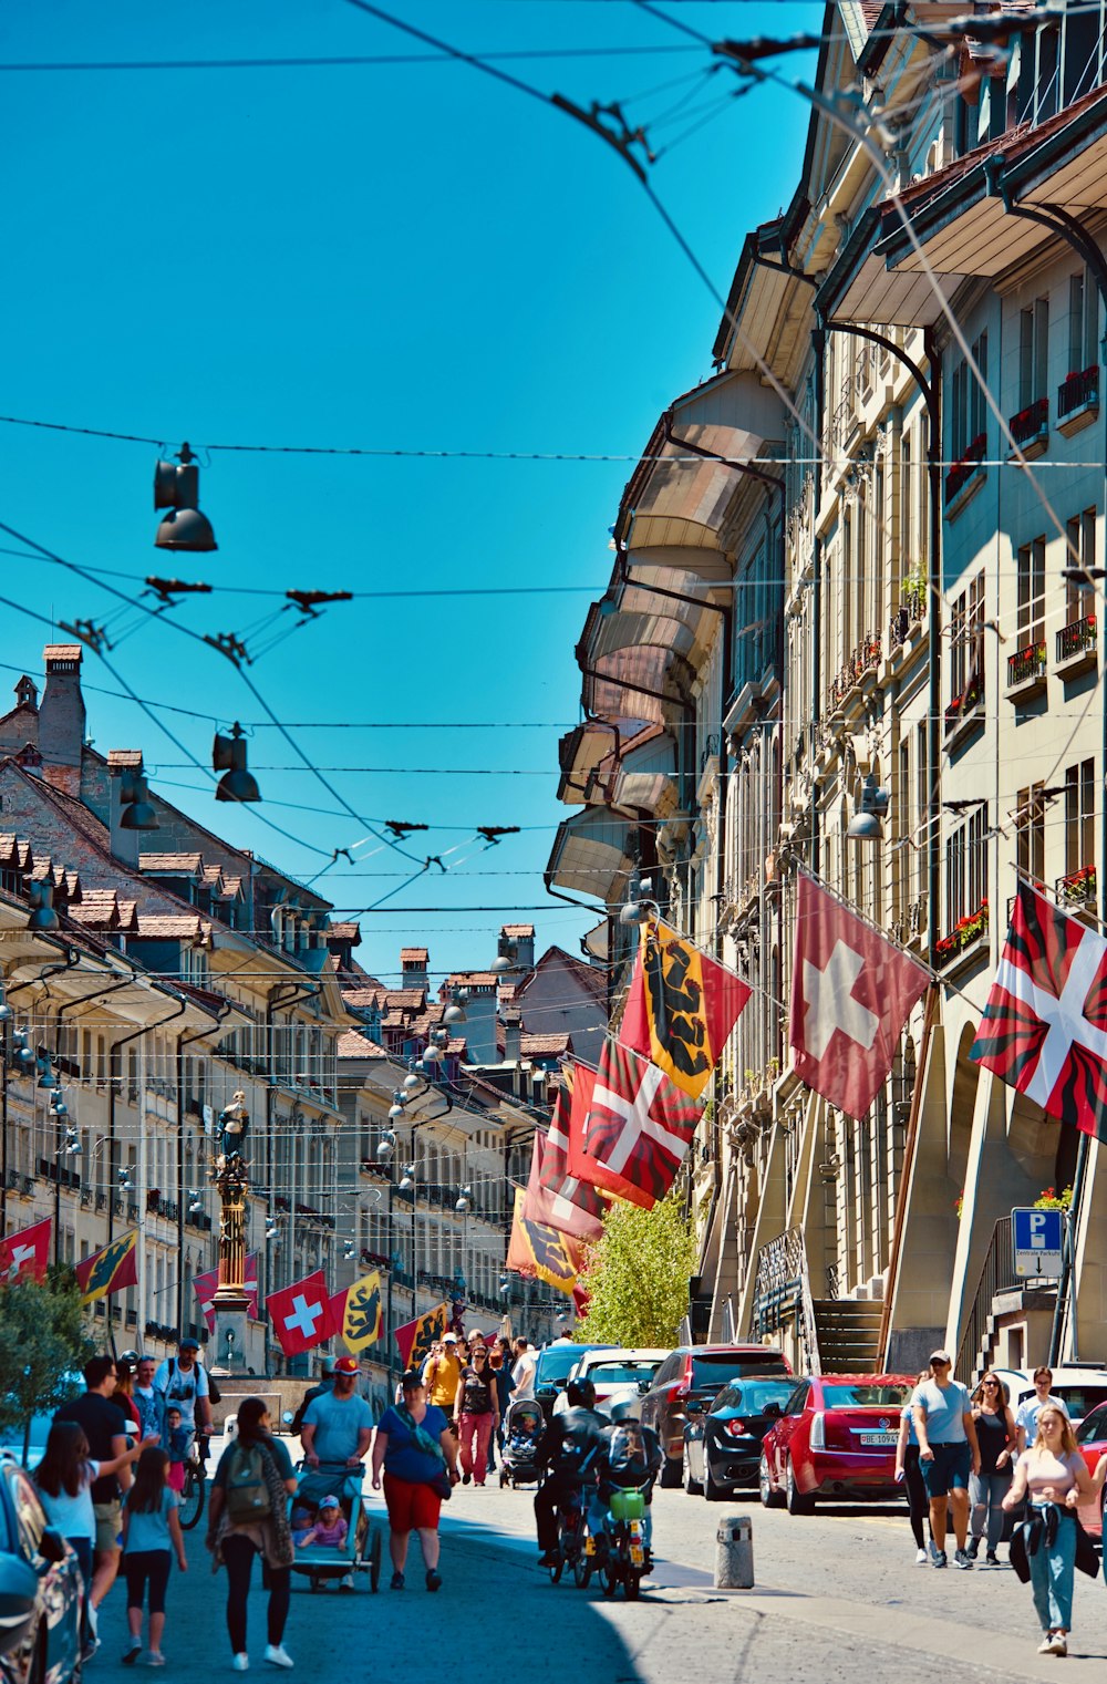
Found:
[[[799,874],[789,1042],[809,1088],[866,1116],[928,983],[922,965]]]

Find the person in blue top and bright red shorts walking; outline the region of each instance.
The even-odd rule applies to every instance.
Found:
[[[457,1485],[457,1450],[443,1410],[426,1401],[423,1378],[409,1369],[401,1379],[403,1403],[389,1406],[372,1445],[372,1489],[388,1504],[393,1590],[404,1588],[408,1539],[420,1534],[426,1588],[438,1590],[438,1511],[443,1489]]]

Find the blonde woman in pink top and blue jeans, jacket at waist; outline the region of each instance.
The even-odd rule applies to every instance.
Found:
[[[1029,1499],[1029,1516],[1016,1529],[1011,1554],[1014,1558],[1021,1543],[1041,1623],[1038,1654],[1067,1655],[1077,1563],[1075,1507],[1090,1502],[1102,1489],[1104,1458],[1095,1470],[1097,1487],[1077,1450],[1068,1415],[1056,1401],[1041,1404],[1036,1425],[1035,1442],[1018,1460],[1003,1507],[1014,1509],[1024,1497]]]

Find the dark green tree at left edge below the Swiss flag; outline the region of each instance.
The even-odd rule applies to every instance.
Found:
[[[47,1270],[44,1282],[0,1287],[0,1431],[19,1430],[35,1413],[72,1394],[67,1374],[93,1356],[81,1288],[72,1270]]]

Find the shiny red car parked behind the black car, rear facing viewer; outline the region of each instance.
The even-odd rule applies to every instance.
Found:
[[[814,1514],[817,1497],[898,1497],[900,1413],[915,1374],[802,1379],[765,1433],[758,1489],[767,1509]]]

